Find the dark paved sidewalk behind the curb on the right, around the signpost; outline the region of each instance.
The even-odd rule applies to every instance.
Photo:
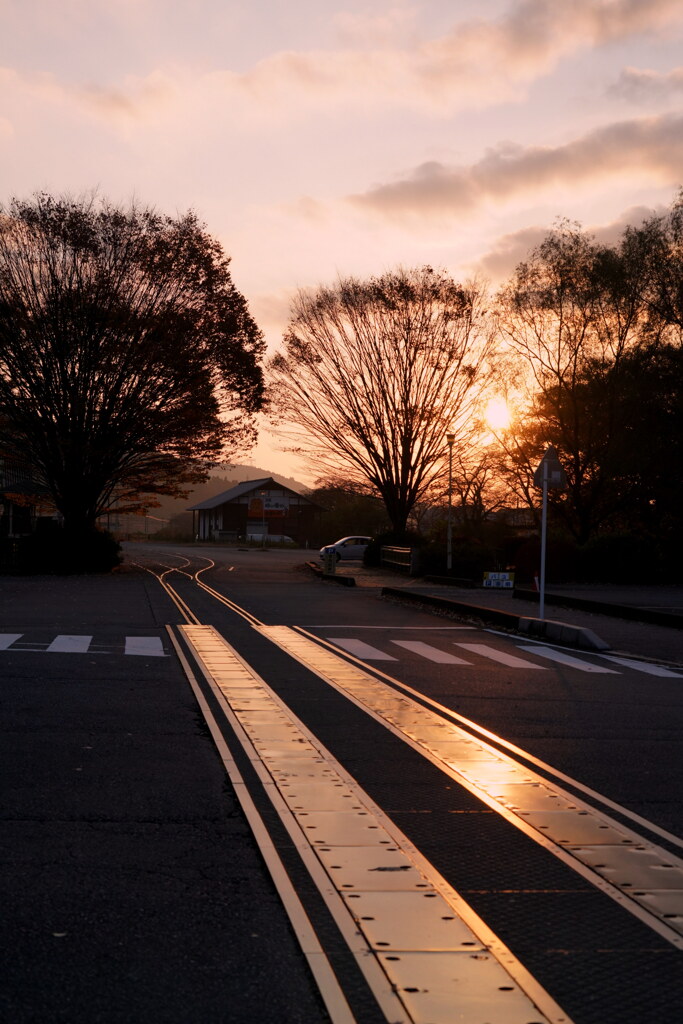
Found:
[[[340,575],[353,577],[357,587],[399,587],[415,594],[428,594],[482,608],[510,611],[515,615],[539,617],[537,602],[513,597],[510,591],[433,584],[421,578],[410,579],[399,575],[388,569],[366,568],[357,565],[341,566],[337,572]],[[681,613],[683,610],[683,587],[627,587],[624,585],[551,587],[547,591],[545,615],[546,618],[592,630],[605,643],[608,643],[614,652],[683,666],[683,629],[639,623],[621,618],[615,614],[601,614],[578,608],[560,607],[550,603],[549,598],[553,593],[589,598],[609,605],[623,604],[629,607]]]

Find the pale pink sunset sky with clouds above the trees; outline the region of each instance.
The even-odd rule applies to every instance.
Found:
[[[274,351],[300,288],[504,281],[683,184],[682,0],[0,0],[0,201],[197,211]],[[310,482],[261,432],[249,459]]]

